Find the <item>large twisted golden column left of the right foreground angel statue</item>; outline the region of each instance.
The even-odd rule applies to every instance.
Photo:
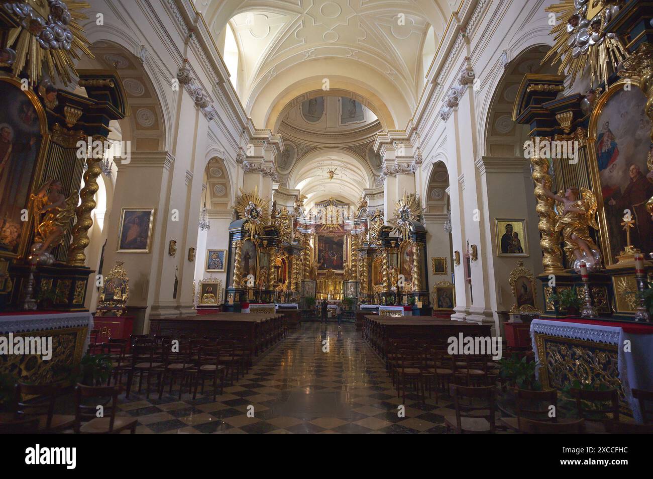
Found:
[[[532,137],[533,144],[537,139]],[[540,138],[540,142],[550,141],[550,137]],[[528,142],[524,143],[524,150]],[[532,148],[533,154],[530,161],[533,165],[533,181],[535,182],[535,198],[537,199],[537,228],[541,235],[539,244],[542,247],[542,265],[546,274],[564,274],[562,267],[562,249],[560,248],[560,233],[556,231],[556,213],[553,210],[553,200],[545,195],[550,191],[552,180],[549,176],[549,159],[539,156],[539,149]]]

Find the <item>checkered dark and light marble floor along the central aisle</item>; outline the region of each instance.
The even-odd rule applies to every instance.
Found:
[[[453,413],[445,395],[422,404],[409,394],[400,418],[383,362],[351,323],[302,323],[216,401],[209,382],[195,400],[167,388],[159,400],[154,389],[150,399],[121,398],[119,414],[138,418],[137,433],[444,433]]]

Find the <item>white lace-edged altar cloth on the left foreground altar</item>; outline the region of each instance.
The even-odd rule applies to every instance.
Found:
[[[46,331],[67,327],[88,326],[84,352],[88,350],[93,329],[93,314],[89,312],[61,312],[51,314],[14,314],[0,316],[0,334]]]

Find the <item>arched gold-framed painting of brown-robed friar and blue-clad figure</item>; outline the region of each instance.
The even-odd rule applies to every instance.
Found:
[[[604,215],[599,214],[603,252],[608,264],[626,248],[626,233],[621,223],[629,210],[635,220],[630,231],[631,245],[645,256],[653,252],[653,219],[646,212],[646,201],[653,196],[653,173],[646,161],[653,152],[651,123],[645,113],[646,96],[635,84],[628,90],[615,84],[601,97],[590,122],[590,135],[596,139],[594,154],[599,185],[596,196],[603,199]],[[599,201],[600,204],[600,201]]]

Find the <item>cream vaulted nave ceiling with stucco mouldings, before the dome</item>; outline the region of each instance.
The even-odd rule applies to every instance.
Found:
[[[458,0],[197,0],[212,33],[231,25],[240,50],[238,91],[257,126],[274,127],[308,91],[339,88],[405,125],[424,83],[428,30],[439,42]],[[428,65],[427,65],[428,67]]]

